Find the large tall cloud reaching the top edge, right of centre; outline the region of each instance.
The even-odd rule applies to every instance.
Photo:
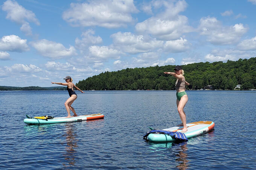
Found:
[[[149,33],[163,40],[174,40],[180,38],[183,33],[191,32],[192,27],[188,26],[188,19],[184,15],[178,15],[187,7],[185,1],[176,3],[168,1],[155,1],[152,6],[165,10],[156,16],[148,18],[142,23],[137,23],[135,28],[139,33]]]

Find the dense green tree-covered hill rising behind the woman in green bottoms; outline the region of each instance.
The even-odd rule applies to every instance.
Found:
[[[189,86],[186,89],[233,90],[240,84],[240,90],[256,87],[256,57],[228,60],[224,62],[200,62],[181,65]],[[81,90],[175,90],[174,77],[163,72],[173,72],[175,65],[147,68],[126,68],[119,71],[102,72],[76,83]]]

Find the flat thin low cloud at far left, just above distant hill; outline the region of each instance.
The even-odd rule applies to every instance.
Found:
[[[32,72],[40,72],[42,71],[41,68],[35,66],[35,65],[23,65],[23,64],[14,64],[10,67],[5,66],[6,71],[9,72],[18,72],[18,73],[32,73]]]

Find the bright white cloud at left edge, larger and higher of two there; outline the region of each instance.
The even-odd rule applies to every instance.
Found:
[[[27,46],[26,39],[21,39],[17,35],[8,35],[8,36],[3,36],[0,39],[0,50],[23,52],[23,51],[29,51],[29,47]]]

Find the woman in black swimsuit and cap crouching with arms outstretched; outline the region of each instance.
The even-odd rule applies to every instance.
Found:
[[[66,76],[64,78],[64,80],[66,80],[66,83],[56,83],[56,82],[52,82],[52,84],[59,84],[62,86],[67,86],[67,91],[69,92],[69,96],[70,98],[67,99],[67,101],[65,102],[65,107],[67,109],[67,117],[71,117],[70,115],[70,110],[74,113],[74,116],[77,116],[75,109],[71,106],[72,103],[75,101],[75,99],[77,98],[77,95],[74,91],[74,87],[76,88],[76,90],[79,90],[80,92],[84,93],[82,90],[80,90],[78,87],[75,86],[74,83],[72,83],[72,78],[70,76]]]

